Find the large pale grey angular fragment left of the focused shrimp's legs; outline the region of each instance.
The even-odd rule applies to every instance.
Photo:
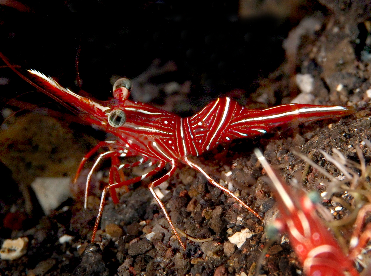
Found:
[[[37,177],[31,186],[45,215],[70,197],[69,177]]]

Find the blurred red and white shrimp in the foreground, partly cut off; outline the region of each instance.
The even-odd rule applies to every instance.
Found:
[[[316,214],[311,199],[304,192],[294,192],[280,181],[259,149],[255,149],[255,155],[275,189],[281,216],[275,226],[280,231],[289,232],[290,242],[303,265],[305,275],[359,275],[352,259],[342,252],[334,236]]]

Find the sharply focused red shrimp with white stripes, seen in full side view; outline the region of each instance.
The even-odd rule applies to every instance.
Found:
[[[102,159],[112,159],[109,185],[102,192],[98,216],[92,233],[92,241],[95,239],[95,233],[103,212],[106,192],[109,191],[112,200],[118,203],[116,188],[130,185],[154,175],[164,168],[165,164],[170,163],[170,171],[151,182],[148,188],[160,205],[171,229],[184,248],[164,204],[154,192],[154,187],[174,174],[179,161],[201,172],[212,185],[222,189],[257,218],[263,220],[257,212],[253,211],[228,189],[214,181],[200,166],[194,164],[188,156],[200,155],[214,148],[217,144],[229,142],[236,138],[265,134],[275,127],[291,121],[320,120],[352,113],[352,110],[340,106],[303,104],[280,105],[265,110],[248,110],[237,104],[236,101],[226,97],[218,98],[191,117],[181,118],[151,105],[128,100],[131,89],[131,83],[128,79],[123,78],[116,81],[113,87],[113,100],[93,101],[61,87],[52,78],[46,77],[39,71],[28,70],[28,77],[26,77],[12,66],[3,54],[0,53],[0,57],[13,71],[37,89],[61,104],[75,108],[79,111],[79,116],[87,123],[98,125],[106,132],[116,136],[115,140],[104,141],[94,147],[83,158],[76,174],[77,177],[86,160],[100,148],[109,149],[98,156],[86,182],[85,208],[89,181],[94,169]],[[142,156],[142,159],[134,164],[119,165],[118,157],[134,155]],[[127,181],[120,180],[118,169],[137,166],[147,160],[150,160],[151,164],[157,165],[152,171]]]

